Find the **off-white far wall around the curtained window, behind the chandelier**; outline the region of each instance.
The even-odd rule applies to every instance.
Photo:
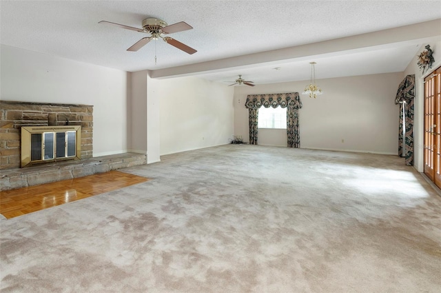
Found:
[[[317,99],[300,94],[300,147],[398,154],[398,105],[394,100],[402,72],[317,80]],[[247,94],[299,92],[309,81],[235,87],[235,135],[249,141]],[[258,143],[286,146],[280,130],[259,130]]]

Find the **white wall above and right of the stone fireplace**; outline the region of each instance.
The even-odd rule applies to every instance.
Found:
[[[1,45],[3,101],[94,106],[94,156],[127,151],[127,72]]]

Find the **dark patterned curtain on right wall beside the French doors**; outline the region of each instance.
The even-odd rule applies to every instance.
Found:
[[[406,104],[403,105],[403,102]],[[413,165],[413,105],[415,102],[415,74],[407,75],[398,87],[395,103],[400,104],[400,126],[398,128],[398,154],[404,156],[406,165]],[[404,116],[403,110],[404,107]],[[406,134],[403,142],[402,125],[403,119]]]

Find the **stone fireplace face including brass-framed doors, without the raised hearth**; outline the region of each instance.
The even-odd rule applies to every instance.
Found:
[[[90,159],[93,156],[92,105],[0,101],[0,115],[0,169],[19,168],[62,159]],[[72,145],[68,145],[69,137],[72,139],[72,131],[78,138],[75,142],[74,155],[72,155]],[[30,134],[25,135],[25,144],[21,141],[23,132]],[[35,134],[34,145],[39,143],[41,145],[40,150],[38,148],[34,150],[34,156],[37,156],[34,160],[31,159],[30,153],[32,133]],[[61,154],[62,148],[57,149],[57,145],[54,145],[57,141],[61,143],[62,137],[64,137],[63,143],[67,143],[63,154]],[[43,144],[45,139],[48,143]],[[23,153],[23,150],[28,153]],[[59,154],[54,153],[55,150],[58,150]],[[35,155],[38,152],[42,154],[40,158]]]

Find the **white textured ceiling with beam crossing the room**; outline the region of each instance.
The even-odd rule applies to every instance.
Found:
[[[318,79],[401,72],[420,50],[421,40],[379,44],[373,35],[370,39],[361,37],[361,42],[365,42],[362,46],[343,50],[351,46],[342,43],[353,40],[340,38],[441,19],[441,1],[422,0],[1,0],[0,10],[3,45],[129,72],[153,70],[153,77],[195,75],[223,82],[234,81],[236,74],[243,74],[243,78],[256,84],[307,80],[310,61],[317,62]],[[141,28],[147,17],[163,19],[168,24],[189,23],[192,30],[170,37],[198,52],[190,55],[161,40],[151,41],[137,52],[127,52],[148,35],[98,23],[105,20]],[[441,37],[441,28],[438,29],[437,41]],[[393,39],[393,32],[390,34]],[[308,45],[328,42],[326,47],[332,48],[333,43],[329,42],[334,39],[340,39],[341,50],[326,52],[320,47],[313,52],[314,46]],[[299,48],[303,48],[302,54],[298,54]]]

